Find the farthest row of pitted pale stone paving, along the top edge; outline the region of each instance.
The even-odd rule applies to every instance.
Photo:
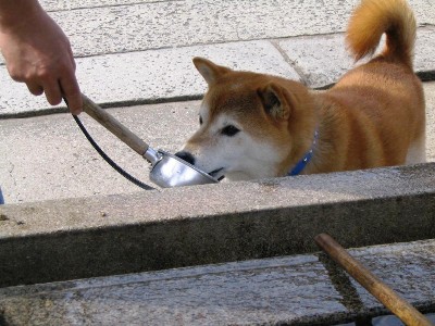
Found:
[[[48,1],[47,1],[48,2]],[[345,32],[356,0],[48,2],[76,55]],[[419,25],[435,24],[431,1],[410,1]],[[94,7],[94,8],[92,8]],[[77,22],[80,28],[77,28]]]

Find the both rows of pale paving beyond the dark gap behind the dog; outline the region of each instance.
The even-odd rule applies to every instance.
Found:
[[[42,1],[72,42],[83,91],[111,106],[198,98],[204,85],[190,63],[196,55],[325,87],[351,66],[341,38],[357,3]],[[428,0],[410,4],[421,26],[415,70],[433,80],[434,10]],[[64,110],[12,82],[2,62],[0,118]]]

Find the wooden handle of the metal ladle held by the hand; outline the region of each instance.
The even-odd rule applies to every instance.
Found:
[[[138,154],[144,155],[148,150],[148,143],[141,140],[138,136],[133,134],[124,125],[122,125],[112,115],[101,109],[98,104],[94,103],[88,97],[82,95],[83,111],[90,115],[94,120],[100,123],[104,128],[120,138],[123,142],[129,146]]]

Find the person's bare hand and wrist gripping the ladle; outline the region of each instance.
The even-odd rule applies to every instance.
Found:
[[[64,96],[73,114],[82,112],[70,41],[37,0],[0,0],[0,50],[8,72],[33,95],[55,105]]]

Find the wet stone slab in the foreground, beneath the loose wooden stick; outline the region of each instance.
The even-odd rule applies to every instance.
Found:
[[[434,240],[349,252],[435,310]],[[324,254],[0,289],[7,325],[334,325],[386,312]]]

